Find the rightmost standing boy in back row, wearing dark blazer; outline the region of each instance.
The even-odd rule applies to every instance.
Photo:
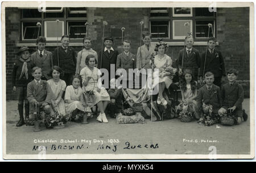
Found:
[[[203,82],[203,76],[207,71],[214,74],[214,85],[221,87],[221,81],[224,81],[226,76],[224,59],[220,51],[215,49],[216,39],[210,37],[208,39],[208,50],[207,56],[205,57],[205,52],[201,56],[200,65],[200,82]],[[206,60],[206,61],[205,61]],[[205,65],[205,67],[204,67]]]

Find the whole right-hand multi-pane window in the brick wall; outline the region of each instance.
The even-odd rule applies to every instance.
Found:
[[[212,24],[212,27],[208,27]],[[181,41],[192,34],[195,40],[216,36],[216,12],[208,8],[151,8],[150,32],[152,38]]]

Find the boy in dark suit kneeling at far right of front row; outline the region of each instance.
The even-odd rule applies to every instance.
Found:
[[[222,116],[230,111],[237,117],[237,124],[241,124],[243,115],[243,87],[236,82],[238,74],[236,69],[228,70],[227,74],[228,83],[221,88],[223,104],[218,110],[218,114]]]

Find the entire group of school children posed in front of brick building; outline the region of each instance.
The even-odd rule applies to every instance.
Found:
[[[39,36],[36,40],[37,50],[22,47],[19,49],[18,58],[14,62],[13,90],[18,95],[18,111],[20,120],[16,126],[25,124],[23,117],[23,104],[25,119],[43,111],[47,114],[60,113],[70,115],[73,121],[88,123],[87,118],[92,115],[92,107],[97,105],[100,114],[97,121],[108,123],[106,108],[110,107],[110,117],[122,110],[121,87],[115,85],[115,79],[110,79],[112,88],[101,85],[101,71],[110,72],[110,66],[115,69],[151,69],[152,54],[155,68],[159,69],[158,104],[167,105],[163,96],[165,88],[172,84],[172,78],[164,71],[166,66],[173,66],[173,59],[167,56],[168,45],[163,41],[151,44],[150,33],[143,34],[143,45],[138,48],[137,56],[130,52],[131,42],[124,40],[122,53],[113,49],[113,38],[104,39],[105,48],[100,52],[92,49],[89,37],[83,40],[83,49],[76,54],[69,47],[69,36],[61,37],[61,46],[51,53],[45,49],[46,38]],[[236,82],[238,72],[230,69],[227,72],[228,82],[221,86],[226,76],[224,58],[220,51],[215,49],[216,39],[208,39],[208,50],[201,54],[193,48],[193,37],[185,37],[185,47],[180,50],[177,57],[178,73],[180,80],[181,102],[189,103],[195,113],[196,119],[200,118],[200,109],[203,104],[210,104],[213,112],[225,115],[228,111],[238,117],[237,124],[243,121],[242,102],[243,88]],[[204,83],[199,88],[199,83]],[[133,81],[133,77],[123,79],[123,83]],[[197,90],[199,88],[199,90]],[[108,89],[108,91],[106,90]],[[93,91],[92,95],[88,95]],[[87,93],[87,94],[85,94]],[[116,111],[118,110],[118,111]],[[114,111],[114,112],[113,112]],[[35,121],[38,125],[39,121]]]

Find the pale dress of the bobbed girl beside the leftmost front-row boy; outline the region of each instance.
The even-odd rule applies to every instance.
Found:
[[[49,84],[49,86],[52,89],[53,95],[52,95],[52,100],[56,100],[60,94],[60,91],[65,91],[66,89],[66,83],[63,80],[59,80],[59,82],[54,82],[53,79],[49,79],[47,81],[47,83]],[[66,111],[65,111],[65,103],[64,100],[61,98],[59,104],[56,107],[57,111],[61,114],[61,115],[66,115]]]

